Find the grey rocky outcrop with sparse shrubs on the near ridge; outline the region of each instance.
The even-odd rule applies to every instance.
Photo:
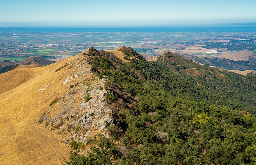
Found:
[[[85,143],[98,133],[106,134],[105,121],[111,124],[114,122],[113,112],[106,105],[107,100],[104,98],[111,92],[104,88],[107,77],[99,79],[98,76],[92,75],[92,66],[86,56],[89,51],[88,49],[79,54],[64,68],[72,70],[62,80],[62,84],[68,84],[69,87],[58,101],[46,110],[44,117],[44,121],[56,130],[65,129],[61,133],[66,133],[71,138]],[[87,101],[84,98],[86,96]],[[57,115],[52,113],[58,109],[61,110],[60,113]]]

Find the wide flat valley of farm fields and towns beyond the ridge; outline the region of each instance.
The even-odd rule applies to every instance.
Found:
[[[1,29],[0,29],[1,31]],[[173,53],[213,55],[231,51],[256,51],[252,32],[0,32],[0,58],[20,60],[41,56],[60,60],[89,47],[112,50],[132,47],[149,56]],[[237,47],[238,46],[238,47]],[[237,47],[237,48],[236,48]],[[210,50],[219,53],[206,54]],[[15,56],[15,57],[14,57]],[[15,59],[11,59],[15,58]]]

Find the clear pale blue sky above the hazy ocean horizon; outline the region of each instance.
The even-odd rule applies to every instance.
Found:
[[[256,0],[0,0],[4,26],[183,26],[256,22]]]

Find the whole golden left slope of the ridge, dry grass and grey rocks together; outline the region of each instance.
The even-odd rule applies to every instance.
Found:
[[[107,78],[91,72],[87,52],[0,75],[0,164],[62,164],[71,150],[65,139],[90,145],[105,120],[113,123],[104,99],[109,91],[100,88]]]

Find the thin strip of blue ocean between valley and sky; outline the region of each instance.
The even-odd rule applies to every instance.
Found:
[[[256,24],[233,24],[220,27],[12,27],[0,28],[0,32],[256,32]]]

